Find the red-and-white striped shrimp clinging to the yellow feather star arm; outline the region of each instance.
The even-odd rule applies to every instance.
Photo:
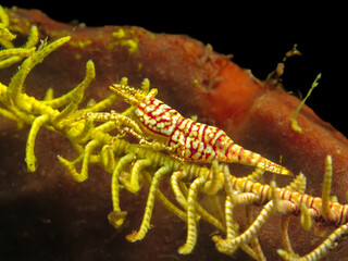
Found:
[[[133,119],[141,129],[137,132],[142,142],[167,150],[182,161],[211,163],[238,162],[259,169],[291,175],[291,172],[260,154],[235,144],[224,130],[184,117],[176,110],[156,99],[157,89],[149,90],[149,80],[142,90],[124,84],[114,84],[111,90],[133,105]],[[107,120],[107,116],[103,116]],[[135,129],[132,129],[135,132]],[[151,141],[148,141],[152,139]]]

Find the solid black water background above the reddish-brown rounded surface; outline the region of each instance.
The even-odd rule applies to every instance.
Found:
[[[348,135],[347,18],[344,5],[233,1],[0,1],[39,9],[51,18],[87,26],[137,25],[154,33],[189,35],[264,79],[294,44],[301,57],[286,62],[286,90],[306,96],[319,73],[322,79],[307,101],[316,114]],[[343,3],[344,4],[344,3]]]

